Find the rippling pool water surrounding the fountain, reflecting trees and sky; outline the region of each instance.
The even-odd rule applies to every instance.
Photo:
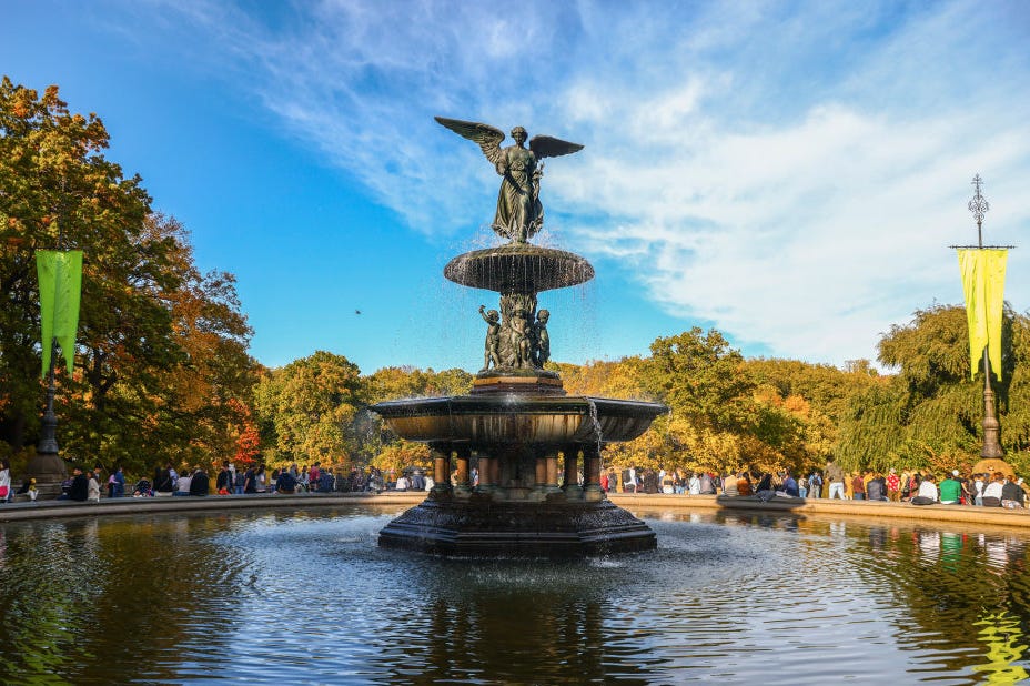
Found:
[[[1019,531],[635,514],[658,549],[376,547],[398,510],[0,525],[0,683],[772,684],[1028,676]]]

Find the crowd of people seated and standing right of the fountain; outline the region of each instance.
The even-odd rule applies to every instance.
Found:
[[[835,462],[825,470],[808,474],[754,473],[749,470],[711,474],[704,471],[624,470],[602,473],[602,488],[625,493],[670,493],[687,495],[754,495],[760,500],[776,496],[799,498],[840,498],[883,501],[913,505],[971,505],[1021,508],[1027,506],[1022,478],[1002,472],[968,473],[959,470],[936,475],[930,471],[902,471],[887,474],[877,471],[845,472]]]

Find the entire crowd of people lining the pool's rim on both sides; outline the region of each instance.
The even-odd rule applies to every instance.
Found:
[[[476,470],[472,470],[472,484],[477,482]],[[582,475],[580,475],[582,483]],[[105,488],[101,485],[105,484]],[[771,500],[776,496],[797,498],[839,498],[852,501],[883,501],[911,503],[913,505],[970,505],[982,507],[1022,508],[1027,506],[1027,491],[1022,478],[1002,472],[969,473],[959,470],[935,475],[928,471],[888,470],[845,472],[835,462],[825,470],[808,474],[791,474],[789,470],[777,473],[755,473],[749,470],[713,474],[705,471],[637,470],[629,467],[617,472],[615,467],[603,470],[600,487],[604,491],[648,494],[726,495],[750,496]],[[329,466],[315,462],[312,466],[289,467],[269,471],[265,465],[253,463],[238,468],[224,462],[212,484],[202,466],[176,472],[171,464],[154,468],[153,478],[138,480],[127,488],[121,467],[104,480],[102,470],[72,468],[72,474],[62,484],[59,500],[97,502],[102,488],[107,497],[162,497],[206,496],[243,494],[296,494],[296,493],[382,493],[383,491],[430,491],[433,480],[422,470],[405,470],[400,475],[384,473],[375,467],[334,474]],[[10,502],[23,494],[29,500],[37,496],[36,480],[26,480],[17,492],[13,488],[10,464],[0,461],[0,503]]]

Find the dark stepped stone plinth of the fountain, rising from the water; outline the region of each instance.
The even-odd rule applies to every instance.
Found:
[[[385,548],[446,557],[583,557],[650,551],[655,533],[607,500],[492,502],[431,496],[380,532]]]

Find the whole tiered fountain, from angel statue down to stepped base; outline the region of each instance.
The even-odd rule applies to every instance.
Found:
[[[559,375],[544,369],[551,313],[537,307],[537,295],[589,281],[594,268],[579,255],[528,242],[544,219],[538,161],[583,147],[537,135],[527,149],[518,127],[512,131],[515,144],[501,148],[504,133],[493,127],[436,120],[478,143],[503,178],[493,229],[509,242],[458,255],[444,269],[455,283],[499,293],[501,311],[479,307],[487,329],[484,365],[469,395],[372,407],[397,435],[430,446],[435,477],[422,504],[382,529],[380,545],[447,556],[567,557],[654,548],[654,532],[600,488],[602,451],[636,438],[668,408],[570,396]],[[476,485],[469,478],[473,461]]]

